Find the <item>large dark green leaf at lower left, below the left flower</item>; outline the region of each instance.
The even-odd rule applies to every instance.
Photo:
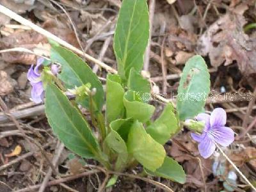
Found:
[[[54,84],[45,91],[45,113],[52,130],[68,149],[84,158],[97,158],[99,143],[89,125]]]

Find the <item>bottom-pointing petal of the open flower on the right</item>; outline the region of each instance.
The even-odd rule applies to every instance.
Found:
[[[207,135],[204,137],[204,140],[202,140],[201,143],[199,143],[198,145],[199,153],[205,159],[213,154],[215,148],[216,146],[214,142]]]

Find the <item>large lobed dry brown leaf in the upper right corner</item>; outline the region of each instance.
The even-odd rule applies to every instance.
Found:
[[[239,4],[233,12],[214,22],[199,38],[199,54],[209,54],[213,67],[237,61],[239,70],[244,75],[256,73],[256,40],[243,31],[246,23],[243,13],[247,9],[247,4]]]

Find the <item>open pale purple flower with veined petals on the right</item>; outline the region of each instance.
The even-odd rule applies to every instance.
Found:
[[[213,154],[215,143],[227,147],[234,141],[234,131],[225,127],[227,115],[224,109],[214,109],[211,116],[200,113],[196,116],[196,120],[205,122],[204,131],[202,134],[191,133],[191,137],[199,143],[198,150],[205,159]]]

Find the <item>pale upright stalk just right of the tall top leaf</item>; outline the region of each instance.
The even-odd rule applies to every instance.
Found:
[[[147,49],[145,52],[144,57],[144,70],[148,71],[149,61],[150,61],[150,45],[151,45],[151,35],[152,35],[152,26],[153,26],[153,20],[154,20],[154,12],[155,12],[155,6],[156,6],[156,0],[150,0],[149,3],[149,40]]]

